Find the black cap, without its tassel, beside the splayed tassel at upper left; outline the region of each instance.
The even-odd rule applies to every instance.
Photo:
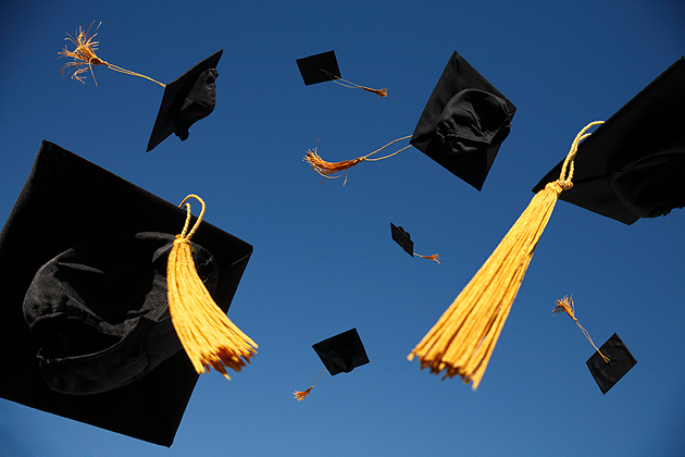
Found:
[[[223,52],[223,49],[214,52],[166,85],[148,143],[148,152],[172,133],[185,141],[188,138],[188,128],[214,111],[216,104],[214,82],[219,76],[216,65]]]

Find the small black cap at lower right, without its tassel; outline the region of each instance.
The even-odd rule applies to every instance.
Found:
[[[609,359],[609,362],[607,363],[599,353],[595,351],[586,363],[599,390],[606,394],[625,373],[631,371],[637,360],[615,333],[601,345],[599,350]]]

